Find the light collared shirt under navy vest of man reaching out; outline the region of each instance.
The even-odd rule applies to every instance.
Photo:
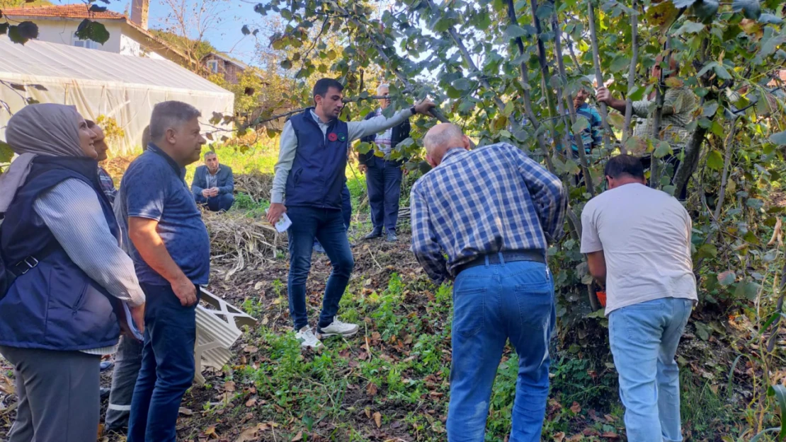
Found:
[[[319,116],[310,110],[311,116],[317,122],[322,134],[327,133],[329,122],[323,122]],[[347,122],[347,145],[352,141],[362,138],[372,133],[378,133],[380,130],[385,130],[388,127],[399,126],[402,122],[412,116],[409,109],[396,112],[391,118],[385,118],[384,115],[374,117],[373,119],[365,119],[362,121]],[[273,186],[270,190],[270,203],[284,203],[284,190],[287,186],[287,177],[289,171],[292,170],[292,163],[295,162],[295,155],[297,153],[297,135],[295,130],[292,129],[292,122],[287,121],[284,125],[284,130],[281,130],[281,141],[279,142],[278,162],[275,166],[275,174],[273,177]],[[348,155],[347,150],[347,155]]]

